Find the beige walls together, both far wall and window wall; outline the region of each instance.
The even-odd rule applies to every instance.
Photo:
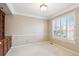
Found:
[[[79,8],[75,9],[77,20],[77,39],[75,44],[56,40],[52,37],[52,20],[40,20],[26,16],[6,16],[5,32],[13,38],[13,46],[22,45],[29,42],[50,40],[53,43],[79,52]],[[48,30],[48,31],[47,31]]]

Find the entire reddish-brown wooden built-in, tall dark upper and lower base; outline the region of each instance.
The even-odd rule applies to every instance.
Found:
[[[0,56],[6,55],[11,47],[11,36],[5,36],[5,13],[0,10]]]

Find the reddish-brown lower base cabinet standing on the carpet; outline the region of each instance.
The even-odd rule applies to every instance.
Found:
[[[5,39],[3,40],[0,40],[0,56],[5,56],[6,53],[10,50],[12,44],[11,42],[12,40],[10,36],[5,37]]]

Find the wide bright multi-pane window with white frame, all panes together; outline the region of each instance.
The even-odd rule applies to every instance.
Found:
[[[75,40],[75,24],[75,12],[53,19],[53,37],[59,40]]]

